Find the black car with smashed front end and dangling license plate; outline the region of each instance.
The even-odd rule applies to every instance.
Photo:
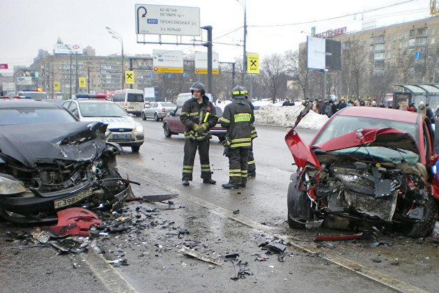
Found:
[[[0,216],[44,223],[71,206],[120,209],[130,183],[116,170],[121,147],[105,142],[106,128],[45,101],[0,103]]]

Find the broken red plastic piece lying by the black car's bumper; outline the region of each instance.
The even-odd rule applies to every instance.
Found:
[[[88,236],[91,226],[102,224],[98,215],[79,207],[63,209],[56,215],[58,215],[58,223],[50,228],[59,235]]]

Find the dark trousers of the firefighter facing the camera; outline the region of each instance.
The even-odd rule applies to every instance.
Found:
[[[192,171],[194,170],[194,159],[197,149],[201,164],[201,178],[211,178],[212,174],[210,174],[209,144],[210,140],[185,140],[182,180],[192,181]]]

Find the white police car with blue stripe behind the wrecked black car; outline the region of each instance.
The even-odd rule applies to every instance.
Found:
[[[102,121],[107,123],[107,141],[116,142],[121,147],[131,147],[133,152],[144,143],[144,128],[121,107],[105,97],[76,94],[66,100],[63,107],[72,112],[80,121]]]

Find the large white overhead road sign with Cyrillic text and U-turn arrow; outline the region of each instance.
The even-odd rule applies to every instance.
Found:
[[[136,4],[136,33],[200,36],[200,8]]]

